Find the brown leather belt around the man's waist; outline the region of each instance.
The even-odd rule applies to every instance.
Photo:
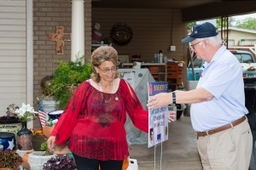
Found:
[[[236,125],[239,125],[241,122],[244,122],[246,119],[247,119],[246,116],[242,116],[240,119],[236,120],[235,122],[230,122],[230,124],[224,125],[223,127],[214,128],[207,132],[200,132],[200,133],[198,132],[197,135],[199,137],[204,137],[204,136],[211,135],[214,133],[219,133],[224,130],[227,130],[230,127],[236,127]]]

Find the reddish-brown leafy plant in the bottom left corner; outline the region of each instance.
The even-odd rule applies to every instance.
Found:
[[[22,157],[12,150],[0,150],[0,168],[19,169],[22,164]]]

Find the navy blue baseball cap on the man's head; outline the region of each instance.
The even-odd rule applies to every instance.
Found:
[[[183,43],[192,42],[196,38],[203,37],[214,37],[218,35],[218,28],[213,26],[209,22],[205,22],[201,25],[193,25],[190,31],[189,37],[186,37],[182,40]]]

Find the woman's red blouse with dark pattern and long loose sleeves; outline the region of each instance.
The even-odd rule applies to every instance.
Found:
[[[78,156],[103,161],[125,160],[129,156],[124,126],[126,113],[135,127],[148,133],[148,111],[143,110],[128,82],[120,79],[115,94],[102,93],[90,82],[83,82],[51,136],[56,137],[56,144],[70,138],[69,149]]]

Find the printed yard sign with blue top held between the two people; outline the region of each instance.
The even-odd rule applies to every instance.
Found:
[[[168,93],[168,82],[148,82],[148,99]],[[168,105],[148,110],[148,148],[168,139]]]

